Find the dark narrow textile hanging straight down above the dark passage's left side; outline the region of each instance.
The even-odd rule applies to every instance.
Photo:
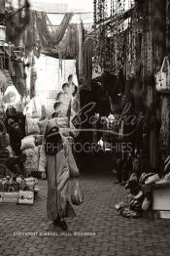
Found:
[[[93,40],[87,37],[83,47],[84,57],[84,82],[83,85],[87,90],[91,90],[91,78],[92,78],[92,55],[93,55]]]

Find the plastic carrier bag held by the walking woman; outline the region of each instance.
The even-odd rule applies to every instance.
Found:
[[[84,202],[84,195],[81,190],[79,179],[74,179],[71,201],[74,205],[80,205]]]

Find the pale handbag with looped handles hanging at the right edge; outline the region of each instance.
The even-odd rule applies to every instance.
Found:
[[[167,56],[163,60],[160,71],[155,74],[155,86],[157,92],[170,93],[170,64]]]

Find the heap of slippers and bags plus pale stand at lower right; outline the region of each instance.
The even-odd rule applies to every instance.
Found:
[[[134,190],[135,188],[136,190]],[[163,197],[158,199],[160,194],[170,195],[170,173],[164,175],[164,178],[160,178],[158,174],[143,173],[139,180],[136,173],[132,173],[125,184],[125,189],[130,190],[130,193],[122,202],[115,205],[119,215],[127,218],[139,218],[150,210],[160,212],[164,210],[164,207],[160,206],[159,202],[163,197],[165,198],[165,195],[162,195]],[[166,207],[166,210],[170,211],[170,208]]]

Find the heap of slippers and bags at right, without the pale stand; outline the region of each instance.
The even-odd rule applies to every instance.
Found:
[[[164,178],[155,173],[143,173],[140,179],[136,173],[132,173],[130,179],[125,185],[126,190],[130,193],[124,200],[116,204],[115,208],[119,215],[127,218],[139,218],[144,212],[151,209],[153,203],[153,189],[165,188],[170,186],[170,173]]]

